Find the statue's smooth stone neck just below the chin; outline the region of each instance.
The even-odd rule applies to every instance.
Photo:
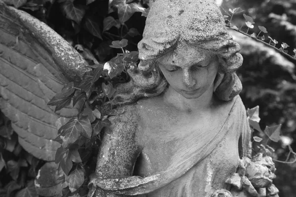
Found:
[[[209,110],[214,104],[213,90],[214,88],[212,85],[199,98],[186,99],[181,94],[176,92],[171,86],[169,86],[164,94],[164,101],[184,112],[200,112],[204,110]]]

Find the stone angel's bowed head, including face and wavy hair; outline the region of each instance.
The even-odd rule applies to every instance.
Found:
[[[226,31],[215,0],[156,0],[138,48],[139,68],[160,68],[185,98],[200,96],[200,88],[212,84],[222,100],[242,89],[235,74],[243,61],[240,47]]]

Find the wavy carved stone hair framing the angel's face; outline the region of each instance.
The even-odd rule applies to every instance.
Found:
[[[219,99],[231,100],[240,93],[242,85],[235,73],[243,62],[238,53],[240,46],[226,31],[215,0],[156,0],[149,11],[143,39],[138,44],[141,59],[139,70],[130,72],[130,83],[134,90],[135,87],[141,87],[141,91],[139,88],[135,91],[138,92],[137,99],[157,96],[164,91],[167,83],[155,62],[175,50],[181,41],[192,47],[212,51],[219,57],[218,73],[223,76],[215,91]],[[148,80],[148,77],[154,81]],[[118,88],[115,99],[123,96],[123,92]],[[127,102],[136,100],[131,97],[125,96],[125,99],[130,100]]]

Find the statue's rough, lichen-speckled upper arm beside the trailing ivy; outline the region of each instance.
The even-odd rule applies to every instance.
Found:
[[[142,150],[137,140],[138,116],[133,106],[124,108],[124,113],[110,117],[101,144],[95,179],[116,179],[132,176],[136,160]],[[107,182],[106,182],[107,184]],[[92,197],[123,197],[98,186],[90,185]],[[95,188],[96,187],[96,188]],[[95,191],[94,191],[95,190]]]

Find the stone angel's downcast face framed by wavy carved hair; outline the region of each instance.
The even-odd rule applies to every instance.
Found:
[[[155,64],[169,85],[186,99],[197,99],[204,94],[206,96],[207,92],[213,93],[217,88],[214,80],[219,59],[211,51],[185,43],[158,58]]]

